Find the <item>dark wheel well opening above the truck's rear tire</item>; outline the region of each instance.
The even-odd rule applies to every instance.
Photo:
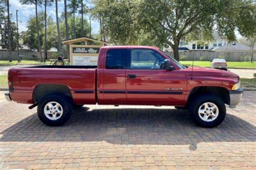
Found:
[[[68,97],[73,101],[71,91],[68,86],[63,84],[38,84],[33,90],[32,99],[33,103],[37,103],[43,97],[50,94],[59,94]]]

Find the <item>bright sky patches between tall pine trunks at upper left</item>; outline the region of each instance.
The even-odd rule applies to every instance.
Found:
[[[25,31],[26,22],[28,22],[29,16],[35,16],[35,4],[23,5],[19,3],[19,0],[9,0],[10,2],[10,13],[12,13],[12,21],[16,22],[16,10],[18,10],[18,27],[19,31]],[[44,5],[37,7],[38,12],[44,11]],[[48,15],[51,15],[54,21],[56,21],[55,3],[52,6],[48,6]],[[64,1],[58,2],[58,16],[64,11]],[[85,19],[89,22],[89,16],[85,16]],[[92,33],[99,33],[99,23],[91,20]]]

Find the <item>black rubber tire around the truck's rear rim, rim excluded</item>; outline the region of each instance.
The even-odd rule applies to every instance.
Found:
[[[59,115],[57,120],[51,120],[44,114],[45,105],[50,102],[57,102],[62,107],[62,115]],[[65,96],[61,95],[49,95],[39,101],[37,106],[37,114],[39,119],[46,125],[49,126],[61,126],[71,118],[72,115],[72,101]],[[52,115],[52,113],[50,113]],[[53,115],[52,115],[53,116]],[[51,117],[51,116],[50,116]]]

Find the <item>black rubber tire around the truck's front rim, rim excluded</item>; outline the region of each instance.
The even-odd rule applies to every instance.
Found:
[[[204,103],[213,103],[218,107],[219,114],[215,120],[204,121],[199,116],[199,107]],[[203,94],[197,98],[194,98],[189,107],[194,123],[201,127],[215,127],[220,125],[226,117],[226,106],[224,101],[214,94]],[[202,114],[201,114],[202,115]],[[210,119],[213,119],[210,116]]]

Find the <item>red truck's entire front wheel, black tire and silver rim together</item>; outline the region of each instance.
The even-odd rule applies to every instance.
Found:
[[[224,101],[213,94],[203,94],[190,104],[194,123],[201,127],[215,127],[226,117]]]

